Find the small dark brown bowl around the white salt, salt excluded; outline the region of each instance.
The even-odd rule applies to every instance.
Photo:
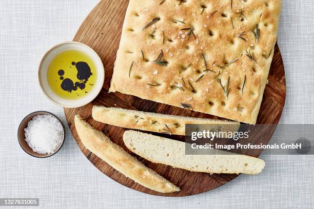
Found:
[[[30,147],[29,145],[27,144],[27,142],[25,141],[25,131],[24,129],[27,127],[27,124],[28,122],[33,119],[33,117],[37,116],[37,115],[51,115],[52,117],[56,118],[62,128],[63,128],[63,139],[62,139],[62,142],[60,143],[59,147],[51,154],[40,154],[40,153],[36,153],[34,152]],[[21,145],[21,148],[29,155],[33,156],[33,157],[38,157],[38,158],[45,158],[45,157],[50,157],[52,155],[54,155],[55,153],[57,153],[63,143],[64,143],[64,139],[65,139],[65,129],[64,129],[64,126],[62,124],[62,122],[60,121],[59,118],[57,118],[55,115],[53,115],[52,113],[49,113],[49,112],[46,112],[46,111],[36,111],[36,112],[33,112],[33,113],[30,113],[29,115],[27,115],[23,120],[22,122],[19,124],[19,127],[18,127],[18,131],[17,131],[17,138],[18,138],[18,143],[19,145]]]

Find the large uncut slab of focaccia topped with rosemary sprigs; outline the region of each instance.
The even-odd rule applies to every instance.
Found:
[[[281,0],[130,0],[110,92],[256,123]]]

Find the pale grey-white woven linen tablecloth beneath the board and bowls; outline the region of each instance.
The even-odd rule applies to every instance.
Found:
[[[0,1],[0,198],[40,198],[40,208],[313,208],[313,156],[262,155],[260,175],[241,175],[219,189],[155,197],[128,189],[98,171],[68,127],[60,152],[27,155],[17,142],[25,115],[46,110],[66,124],[63,109],[41,92],[37,67],[56,43],[71,40],[97,0]],[[314,123],[314,1],[283,1],[278,44],[287,98],[281,123]]]

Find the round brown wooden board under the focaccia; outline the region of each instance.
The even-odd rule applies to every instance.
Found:
[[[213,190],[237,177],[236,174],[207,174],[207,173],[195,173],[189,172],[182,169],[174,169],[171,166],[163,164],[155,164],[144,160],[138,156],[138,159],[144,162],[146,166],[155,170],[166,179],[173,182],[175,185],[180,186],[181,191],[176,193],[158,193],[149,190],[133,180],[125,177],[121,173],[115,171],[106,162],[89,152],[85,149],[81,143],[80,138],[77,136],[74,126],[74,115],[79,114],[97,130],[102,131],[106,134],[114,143],[119,144],[125,150],[123,143],[123,133],[126,129],[120,127],[109,126],[91,118],[91,109],[93,105],[104,105],[106,107],[120,107],[125,109],[141,110],[147,112],[156,112],[163,114],[182,115],[191,117],[204,117],[204,118],[216,118],[203,113],[193,112],[176,108],[162,103],[156,103],[149,100],[143,100],[138,97],[131,95],[124,95],[121,93],[110,93],[108,89],[110,86],[111,75],[113,72],[113,64],[115,61],[116,51],[119,47],[121,30],[123,26],[125,12],[128,6],[128,0],[103,0],[101,1],[87,16],[84,23],[78,29],[74,40],[84,43],[93,48],[102,58],[105,67],[105,82],[104,87],[99,96],[94,99],[88,105],[75,108],[75,109],[64,109],[65,115],[68,121],[70,130],[78,144],[78,147],[82,150],[84,155],[89,161],[96,166],[97,169],[102,171],[104,174],[109,176],[111,179],[130,187],[133,190],[137,190],[143,193],[159,196],[172,196],[182,197],[200,194]],[[286,86],[285,86],[285,71],[282,61],[282,57],[278,46],[276,45],[274,50],[274,57],[269,72],[269,85],[266,86],[263,102],[260,109],[260,114],[257,123],[263,124],[277,124],[279,122],[281,113],[283,111]],[[268,143],[276,126],[273,128],[262,130],[257,133],[262,142]],[[166,137],[169,137],[167,135]],[[173,139],[184,140],[184,137],[171,136]],[[128,150],[127,150],[128,151]],[[130,151],[128,151],[132,154]],[[258,157],[262,150],[258,150],[254,153],[245,153],[254,157]],[[134,154],[132,154],[134,155]]]

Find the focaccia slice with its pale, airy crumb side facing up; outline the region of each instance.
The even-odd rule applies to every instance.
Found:
[[[125,131],[123,141],[127,148],[146,160],[193,172],[225,174],[258,174],[264,160],[211,150],[208,155],[186,155],[185,142],[136,131]]]

